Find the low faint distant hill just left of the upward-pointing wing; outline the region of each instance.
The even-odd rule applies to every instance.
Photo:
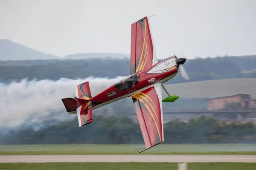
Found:
[[[128,54],[122,54],[122,53],[80,53],[80,54],[70,54],[63,59],[87,59],[87,58],[129,58],[130,55]]]

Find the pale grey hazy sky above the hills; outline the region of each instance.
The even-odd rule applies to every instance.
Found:
[[[256,0],[0,0],[0,39],[63,57],[130,54],[145,16],[158,58],[256,54]]]

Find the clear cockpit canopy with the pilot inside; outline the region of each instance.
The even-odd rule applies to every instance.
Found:
[[[121,79],[119,82],[115,83],[114,87],[117,88],[119,91],[125,91],[137,85],[138,82],[139,75],[132,74],[131,76],[125,77],[124,79]]]

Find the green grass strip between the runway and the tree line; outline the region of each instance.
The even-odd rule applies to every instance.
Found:
[[[256,144],[159,144],[143,153],[144,144],[35,144],[0,145],[0,155],[80,154],[225,154],[256,155]],[[140,149],[141,150],[141,149]]]

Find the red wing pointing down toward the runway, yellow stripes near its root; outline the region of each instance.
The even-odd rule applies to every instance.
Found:
[[[145,150],[147,150],[163,142],[161,83],[147,88],[131,97],[135,105],[140,129],[145,142]]]

